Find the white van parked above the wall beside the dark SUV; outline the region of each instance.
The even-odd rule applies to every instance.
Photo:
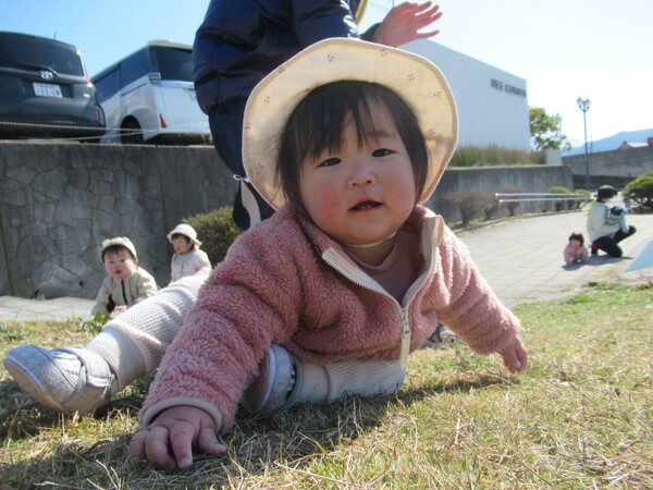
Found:
[[[107,119],[102,143],[211,143],[193,85],[192,49],[150,41],[93,77]]]

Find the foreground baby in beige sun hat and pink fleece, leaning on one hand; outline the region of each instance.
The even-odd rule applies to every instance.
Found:
[[[360,40],[318,42],[255,88],[243,136],[249,180],[278,212],[201,287],[150,388],[133,458],[187,468],[193,448],[222,454],[217,433],[238,403],[266,414],[393,392],[439,320],[525,369],[519,320],[420,205],[457,139],[438,68]]]

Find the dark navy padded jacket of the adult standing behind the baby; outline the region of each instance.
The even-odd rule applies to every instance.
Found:
[[[358,0],[211,0],[193,47],[205,112],[244,99],[268,73],[329,37],[358,37]],[[364,38],[367,38],[364,36]]]

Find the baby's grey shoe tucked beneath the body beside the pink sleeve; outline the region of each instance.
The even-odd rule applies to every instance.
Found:
[[[279,345],[271,345],[259,365],[259,376],[247,388],[241,405],[255,415],[269,415],[294,405],[301,385],[301,363]]]

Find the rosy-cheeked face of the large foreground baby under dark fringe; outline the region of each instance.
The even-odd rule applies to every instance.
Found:
[[[412,164],[393,119],[378,103],[370,109],[373,134],[359,140],[354,119],[347,117],[340,149],[308,157],[299,182],[312,221],[345,245],[387,238],[417,200]]]

